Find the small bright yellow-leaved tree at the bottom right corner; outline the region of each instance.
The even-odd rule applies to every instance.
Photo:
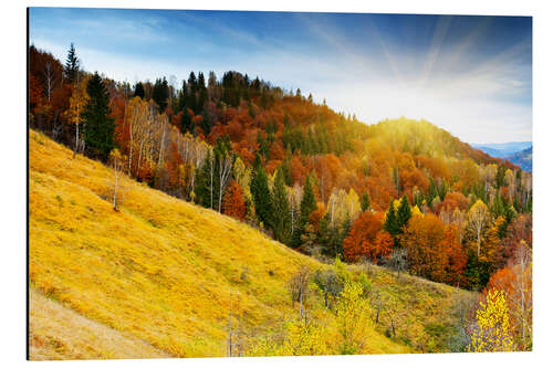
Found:
[[[505,293],[490,290],[486,302],[480,303],[470,335],[470,353],[512,351],[514,341]]]

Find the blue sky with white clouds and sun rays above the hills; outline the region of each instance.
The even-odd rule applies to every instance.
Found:
[[[532,140],[532,19],[31,8],[30,43],[132,84],[226,71],[366,123],[427,119],[468,143]]]

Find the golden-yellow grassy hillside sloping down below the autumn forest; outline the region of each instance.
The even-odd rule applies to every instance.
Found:
[[[284,333],[283,323],[298,314],[286,288],[296,270],[330,267],[234,219],[128,178],[114,211],[112,171],[81,155],[73,158],[34,130],[29,154],[31,311],[42,320],[35,326],[62,326],[49,328],[51,341],[66,340],[73,326],[128,341],[128,349],[105,355],[97,351],[101,340],[91,341],[92,348],[75,343],[71,354],[60,354],[40,350],[43,337],[31,338],[32,359],[136,358],[138,340],[148,346],[144,356],[225,356],[229,319],[240,323],[243,354],[255,351],[249,348]],[[354,275],[361,272],[352,267]],[[383,316],[362,353],[451,348],[461,317],[453,311],[468,292],[407,275],[397,280],[376,266],[369,280],[384,294],[389,317]],[[334,332],[325,337],[332,346],[334,315],[316,286],[310,290],[306,308]],[[59,314],[65,317],[54,318]],[[390,324],[395,337],[388,338]]]

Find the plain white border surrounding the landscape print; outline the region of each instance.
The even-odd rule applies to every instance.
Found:
[[[145,366],[191,366],[211,367],[227,365],[232,367],[303,367],[305,365],[331,366],[347,364],[355,367],[386,365],[398,367],[479,367],[479,366],[545,366],[550,353],[553,312],[551,296],[551,260],[553,242],[551,239],[552,194],[549,187],[553,182],[550,159],[553,157],[553,129],[551,120],[553,102],[552,43],[553,17],[547,1],[279,1],[262,4],[258,1],[168,1],[145,0],[111,1],[21,1],[3,3],[0,12],[2,27],[2,57],[0,93],[2,118],[0,182],[3,194],[0,223],[1,255],[0,272],[2,288],[0,313],[0,364],[4,367],[21,365],[45,365],[85,367],[98,364],[97,360],[69,362],[27,362],[25,354],[25,7],[104,7],[104,8],[156,8],[156,9],[216,9],[216,10],[285,10],[285,11],[338,11],[338,12],[388,12],[388,13],[432,13],[432,14],[494,14],[533,15],[533,135],[534,135],[534,351],[526,354],[484,354],[484,355],[410,355],[410,356],[354,356],[354,357],[304,357],[304,358],[240,358],[240,359],[165,359],[165,360],[106,360],[104,367],[145,367]]]

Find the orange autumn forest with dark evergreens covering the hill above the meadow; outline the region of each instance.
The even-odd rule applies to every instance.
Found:
[[[82,70],[73,44],[64,63],[29,49],[30,128],[107,165],[114,211],[125,175],[338,271],[376,265],[474,292],[465,350],[531,350],[532,175],[427,120],[365,123],[236,71],[129,85]],[[305,274],[294,277],[301,304]],[[314,282],[351,318],[364,291],[342,281],[340,294],[335,277]]]

